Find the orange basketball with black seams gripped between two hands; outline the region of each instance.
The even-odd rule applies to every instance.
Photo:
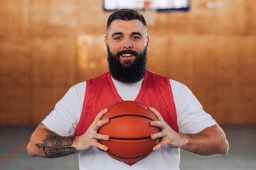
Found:
[[[138,162],[151,154],[159,139],[151,140],[150,135],[160,129],[151,126],[156,115],[142,103],[123,101],[109,108],[102,119],[110,121],[103,125],[100,134],[109,135],[110,140],[100,140],[108,147],[107,154],[125,163]]]

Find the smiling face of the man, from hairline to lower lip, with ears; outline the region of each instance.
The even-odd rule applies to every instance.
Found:
[[[136,52],[141,54],[145,47],[146,52],[149,50],[149,36],[139,20],[114,20],[107,29],[105,45],[124,67],[129,67],[136,60]]]

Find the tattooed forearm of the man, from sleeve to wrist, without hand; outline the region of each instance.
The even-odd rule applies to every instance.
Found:
[[[38,134],[40,134],[40,136],[38,136]],[[28,143],[28,154],[31,157],[64,157],[78,152],[78,150],[73,147],[74,141],[74,136],[61,137],[55,132],[48,130],[46,126],[39,125],[31,136],[31,141]]]

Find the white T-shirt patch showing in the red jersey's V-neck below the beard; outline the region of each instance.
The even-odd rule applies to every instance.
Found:
[[[142,80],[133,84],[124,84],[112,78],[117,93],[124,101],[134,101],[142,87]]]

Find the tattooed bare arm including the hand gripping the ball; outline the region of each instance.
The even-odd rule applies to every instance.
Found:
[[[47,158],[64,157],[79,151],[89,150],[93,146],[107,150],[107,147],[97,142],[97,140],[109,139],[107,135],[97,133],[97,130],[109,121],[108,119],[100,120],[105,113],[107,113],[107,109],[97,114],[87,131],[77,137],[61,137],[55,132],[50,131],[45,125],[39,125],[31,135],[31,140],[28,142],[28,155],[31,157]]]

